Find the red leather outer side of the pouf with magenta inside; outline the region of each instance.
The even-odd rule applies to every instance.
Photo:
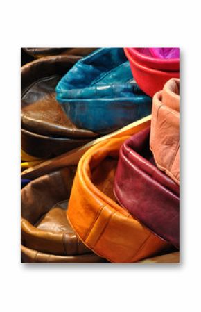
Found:
[[[171,78],[179,78],[180,71],[171,71],[171,67],[166,70],[153,69],[144,64],[139,63],[136,58],[132,56],[130,48],[125,48],[125,55],[130,61],[130,67],[132,70],[132,74],[134,79],[136,80],[139,88],[149,95],[153,97],[156,92],[161,90],[166,83]]]

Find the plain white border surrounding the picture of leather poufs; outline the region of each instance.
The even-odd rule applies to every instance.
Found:
[[[26,0],[1,4],[1,311],[200,311],[198,3]],[[180,47],[180,265],[20,264],[20,48],[68,46]]]

